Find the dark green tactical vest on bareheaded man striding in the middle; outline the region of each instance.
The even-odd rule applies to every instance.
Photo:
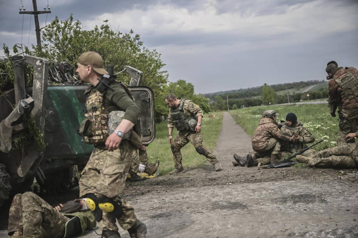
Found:
[[[195,126],[198,123],[198,118],[194,114],[189,117],[184,114],[184,102],[182,99],[179,106],[175,109],[170,108],[171,118],[173,119],[174,126],[178,131],[195,131]]]

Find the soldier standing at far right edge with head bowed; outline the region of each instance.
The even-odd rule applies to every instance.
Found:
[[[327,64],[328,106],[330,114],[335,117],[338,107],[339,131],[337,144],[354,143],[344,140],[349,132],[357,131],[358,118],[358,71],[354,67],[338,67],[337,62]]]

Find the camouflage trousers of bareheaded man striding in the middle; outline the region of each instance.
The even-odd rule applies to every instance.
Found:
[[[175,168],[183,168],[183,157],[182,153],[180,152],[180,149],[183,146],[187,145],[189,142],[192,143],[195,150],[197,150],[200,155],[204,155],[211,164],[214,165],[218,162],[216,157],[209,150],[207,150],[207,148],[203,146],[203,137],[201,133],[190,132],[189,134],[184,135],[184,133],[179,131],[178,135],[176,135],[175,140],[170,146],[171,152],[173,152]]]

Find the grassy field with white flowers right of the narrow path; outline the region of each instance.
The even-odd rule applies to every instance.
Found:
[[[230,114],[236,123],[241,125],[252,136],[261,119],[262,112],[267,108],[267,106],[242,108],[232,110]],[[287,113],[295,113],[298,120],[316,138],[316,141],[324,139],[323,142],[313,147],[314,150],[320,151],[328,147],[337,146],[338,118],[333,118],[329,114],[329,108],[326,104],[277,105],[271,106],[270,109],[280,114],[277,117],[278,122],[285,120]]]

